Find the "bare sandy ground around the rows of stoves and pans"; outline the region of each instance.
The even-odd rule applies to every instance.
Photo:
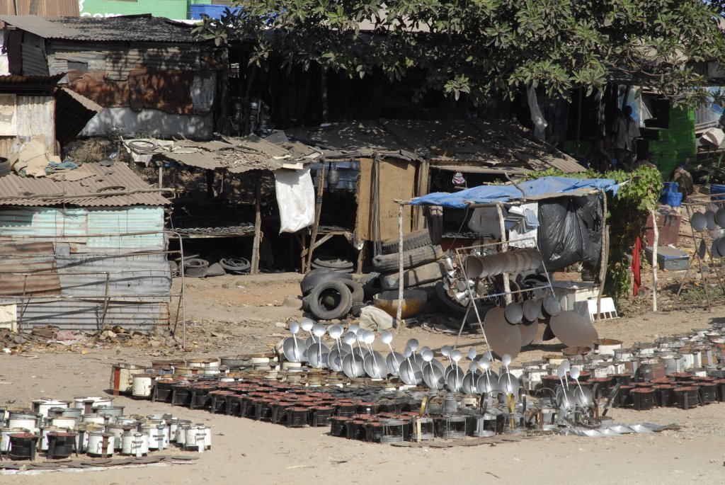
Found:
[[[299,275],[289,274],[189,281],[187,339],[194,351],[166,352],[183,357],[269,349],[286,332],[276,323],[299,316],[299,310],[282,306],[285,297],[298,293],[298,282]],[[597,330],[600,336],[621,339],[625,344],[653,341],[657,336],[706,327],[723,315],[723,310],[718,307],[713,312],[650,313],[597,323]],[[421,345],[436,349],[452,344],[455,339],[410,326],[396,331],[394,344],[402,347],[405,339],[412,336]],[[196,346],[191,343],[194,341]],[[210,341],[214,348],[205,349]],[[526,349],[517,361],[537,360],[558,351],[560,344],[552,342]],[[482,349],[481,336],[464,336],[460,345]],[[102,394],[109,386],[113,362],[149,362],[158,349],[105,344],[87,352],[81,355],[46,349],[34,352],[38,358],[0,355],[0,406],[6,402],[27,404],[38,397],[71,399]],[[682,426],[681,431],[602,439],[542,436],[493,447],[410,449],[327,436],[328,428],[288,429],[128,397],[118,397],[115,402],[126,406],[126,414],[173,412],[181,418],[207,423],[213,432],[212,449],[188,465],[88,471],[80,476],[2,476],[0,483],[46,484],[52,480],[62,485],[80,480],[87,484],[128,484],[144,479],[154,484],[725,483],[724,404],[697,407],[689,412],[671,408],[645,412],[610,410],[610,415],[624,423],[676,423]]]

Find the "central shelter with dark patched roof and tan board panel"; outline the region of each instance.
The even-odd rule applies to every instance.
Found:
[[[355,180],[348,184],[353,187],[357,204],[354,227],[329,231],[323,224],[318,228],[323,235],[320,240],[313,228],[310,246],[314,250],[323,239],[340,233],[359,251],[358,268],[365,241],[397,237],[396,201],[426,194],[431,186],[431,170],[497,176],[548,168],[564,173],[583,170],[576,160],[505,120],[370,120],[295,128],[285,134],[315,147],[326,163],[341,168],[343,176],[348,170],[345,164],[355,165],[357,173],[349,175]],[[324,173],[325,168],[320,172]],[[326,181],[322,180],[322,184],[327,189]],[[335,208],[323,204],[321,210],[324,215]],[[423,212],[411,209],[404,207],[405,233],[423,228]]]

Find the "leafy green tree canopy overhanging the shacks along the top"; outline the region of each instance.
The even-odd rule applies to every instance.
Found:
[[[703,0],[241,0],[197,35],[251,46],[250,62],[350,77],[422,72],[418,94],[474,103],[533,85],[550,97],[610,81],[701,101],[696,62],[725,65],[722,2]]]

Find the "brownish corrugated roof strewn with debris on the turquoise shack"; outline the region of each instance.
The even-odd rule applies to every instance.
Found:
[[[14,173],[0,177],[0,206],[54,206],[67,204],[76,207],[128,207],[131,205],[169,204],[151,186],[141,180],[123,163],[104,167],[96,163],[81,165],[93,175],[80,181],[54,181],[50,178],[23,178]],[[107,192],[109,195],[103,196]]]

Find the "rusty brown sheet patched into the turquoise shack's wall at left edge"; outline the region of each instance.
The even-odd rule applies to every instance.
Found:
[[[60,294],[51,242],[0,243],[0,297]]]

